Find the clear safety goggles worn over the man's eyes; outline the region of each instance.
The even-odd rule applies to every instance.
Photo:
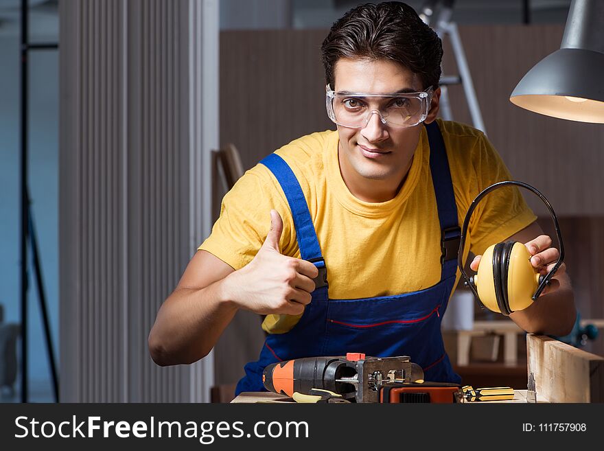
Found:
[[[377,96],[327,92],[329,118],[340,126],[351,128],[366,126],[369,117],[378,111],[390,126],[416,126],[426,119],[428,106],[428,93]]]

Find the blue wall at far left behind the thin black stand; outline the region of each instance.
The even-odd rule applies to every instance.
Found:
[[[40,12],[38,11],[38,19]],[[36,14],[32,21],[36,22]],[[58,21],[44,14],[44,27],[32,31],[36,42],[56,43]],[[19,323],[20,172],[19,34],[0,26],[0,303],[5,321]],[[30,196],[38,235],[51,333],[58,358],[58,51],[30,53]],[[30,254],[31,255],[31,254]],[[30,264],[31,257],[28,257]],[[33,266],[30,266],[30,393],[34,401],[52,400]],[[1,402],[1,399],[0,399]]]

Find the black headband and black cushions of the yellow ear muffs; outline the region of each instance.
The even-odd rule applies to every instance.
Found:
[[[528,183],[511,181],[511,180],[493,183],[493,185],[486,187],[485,189],[483,189],[483,191],[480,192],[480,194],[478,194],[478,196],[476,196],[476,198],[472,201],[472,204],[470,204],[469,209],[467,209],[467,213],[465,215],[465,220],[463,221],[463,227],[461,227],[461,237],[459,240],[459,249],[457,252],[457,266],[461,272],[461,276],[465,280],[465,286],[469,287],[470,290],[472,290],[472,292],[474,293],[474,297],[476,297],[476,301],[478,301],[478,305],[480,305],[480,308],[484,308],[484,305],[480,301],[480,297],[478,297],[478,291],[476,290],[476,286],[474,286],[474,281],[471,277],[469,277],[465,273],[465,270],[463,268],[463,248],[465,247],[465,237],[467,235],[467,227],[469,225],[470,218],[472,218],[472,213],[474,213],[474,209],[476,209],[476,205],[478,205],[480,200],[482,200],[485,196],[487,196],[487,194],[489,194],[491,191],[498,189],[500,187],[507,186],[507,185],[516,185],[519,187],[523,187],[523,188],[529,189],[529,191],[537,194],[537,196],[539,196],[539,198],[543,201],[543,203],[548,207],[548,210],[550,211],[550,215],[552,216],[552,219],[554,221],[554,227],[556,229],[560,256],[558,257],[558,261],[556,262],[554,267],[550,270],[550,272],[545,277],[540,278],[539,286],[537,287],[535,294],[533,294],[533,297],[531,298],[531,299],[533,299],[533,301],[535,301],[539,297],[539,294],[542,293],[545,286],[549,283],[549,281],[553,277],[553,275],[555,275],[556,271],[558,270],[558,268],[562,264],[562,261],[564,260],[564,244],[562,244],[562,235],[560,233],[560,227],[558,225],[558,218],[556,217],[556,213],[555,213],[552,205],[548,202],[548,200],[546,199],[546,197],[543,194],[541,194],[539,191],[537,191],[537,189],[535,189]],[[503,244],[503,243],[499,243],[499,244]],[[501,251],[498,251],[498,254],[502,252],[503,247],[504,246],[501,246]],[[496,290],[495,290],[496,298],[497,298],[499,308],[503,314],[505,314],[504,311],[510,310],[509,304],[507,304],[507,269],[509,266],[509,255],[511,254],[512,247],[513,247],[513,242],[506,251],[508,261],[506,264],[503,265],[503,266],[505,266],[505,268],[501,268],[500,264],[497,264],[497,268],[496,268],[495,264],[493,264],[493,278],[498,278],[498,284],[500,286],[500,295],[497,294],[498,289],[496,288]],[[497,248],[497,246],[496,246],[496,248]],[[498,258],[498,261],[500,261],[500,260],[501,259]],[[493,249],[493,262],[494,261],[495,261],[495,250]],[[498,270],[496,270],[496,269],[498,269]],[[504,273],[502,273],[503,269],[504,269]],[[498,273],[498,275],[496,275],[496,273]],[[505,279],[505,284],[502,283],[503,278]],[[501,296],[502,303],[500,303],[500,296]],[[502,310],[502,306],[504,307],[503,310]],[[509,313],[507,313],[507,314],[509,314]]]

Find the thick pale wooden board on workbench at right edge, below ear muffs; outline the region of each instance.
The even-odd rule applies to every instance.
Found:
[[[526,336],[529,378],[550,402],[604,402],[604,358],[548,336]]]

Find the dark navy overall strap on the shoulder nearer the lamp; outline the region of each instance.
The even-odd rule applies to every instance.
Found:
[[[455,275],[461,236],[443,135],[436,121],[424,123],[430,143],[430,172],[441,223],[441,280]]]

